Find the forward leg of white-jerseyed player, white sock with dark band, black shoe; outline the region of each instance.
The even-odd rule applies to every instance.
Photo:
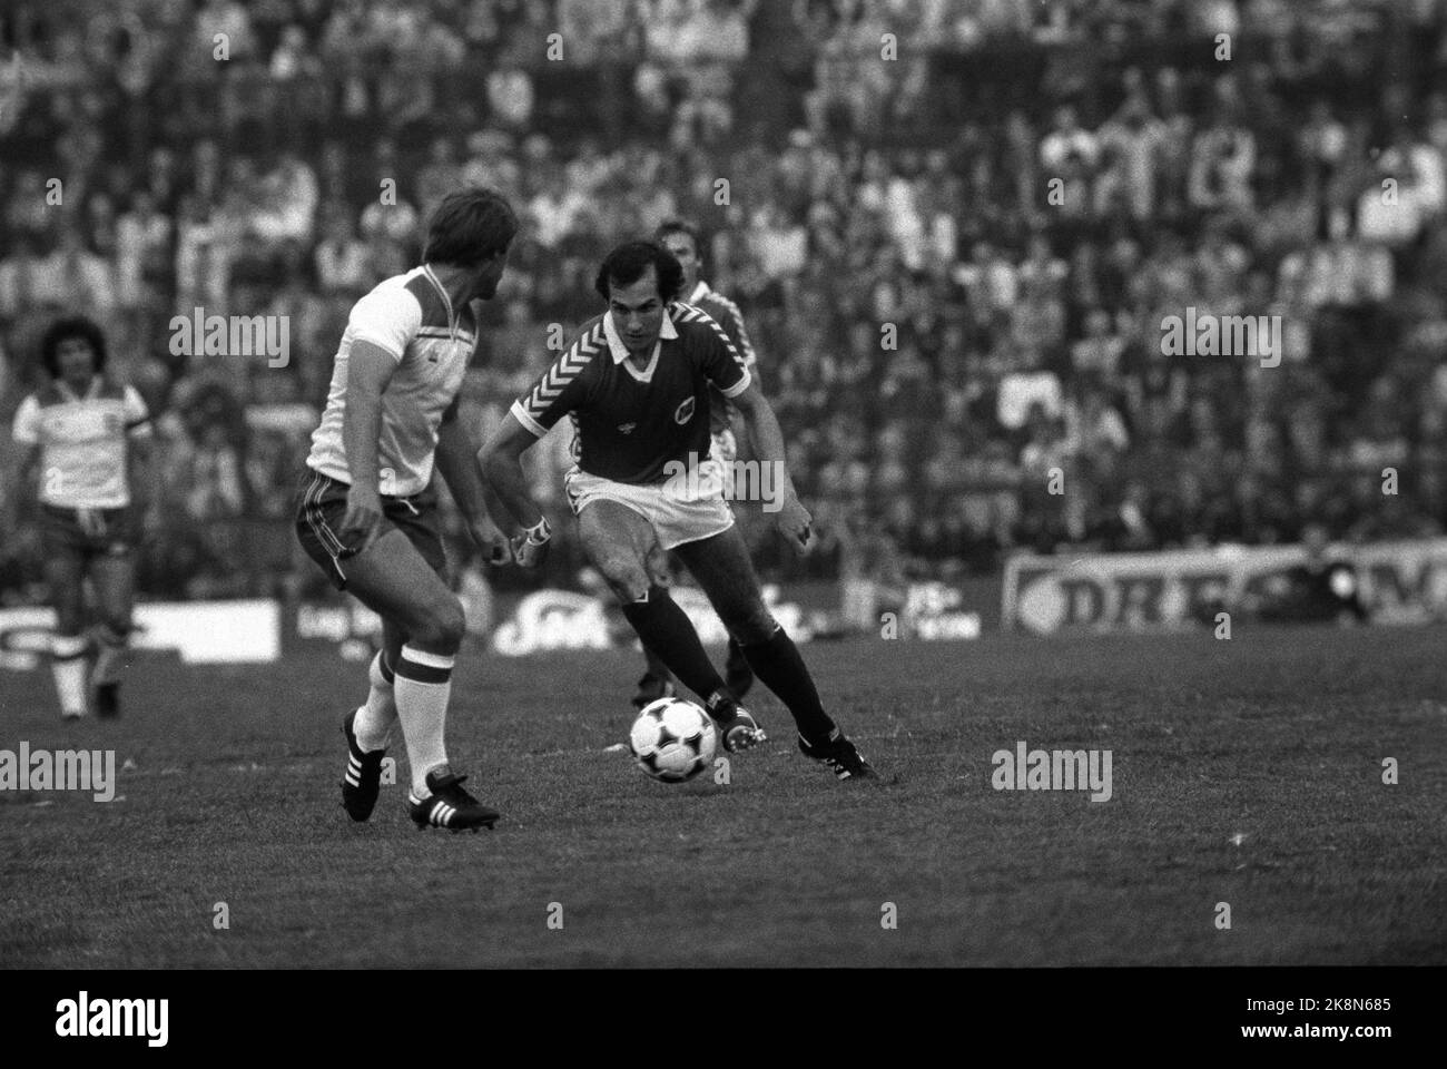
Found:
[[[462,789],[447,765],[451,669],[466,633],[462,603],[399,530],[381,534],[341,562],[347,591],[407,636],[392,665],[392,697],[412,776],[412,820],[420,827],[491,827],[498,814]],[[375,740],[375,739],[373,739]]]

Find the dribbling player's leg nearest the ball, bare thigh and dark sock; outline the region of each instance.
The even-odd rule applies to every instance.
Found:
[[[577,533],[589,561],[622,604],[624,616],[645,649],[651,649],[684,687],[703,700],[729,750],[765,740],[752,717],[738,707],[699,642],[687,614],[666,587],[654,585],[648,553],[653,524],[616,501],[592,501],[577,514]]]

